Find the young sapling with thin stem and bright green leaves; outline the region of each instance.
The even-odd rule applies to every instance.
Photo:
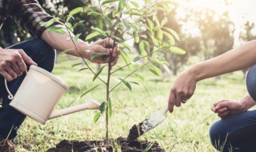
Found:
[[[129,82],[127,78],[130,75],[135,74],[142,81],[144,77],[138,73],[140,69],[148,69],[153,74],[158,77],[162,77],[162,71],[159,66],[163,68],[167,68],[167,63],[164,54],[162,51],[169,51],[174,54],[186,54],[186,52],[177,46],[174,46],[175,40],[179,40],[178,34],[166,27],[166,19],[158,20],[157,13],[158,10],[169,11],[169,7],[161,7],[155,5],[157,1],[151,2],[150,0],[145,0],[144,3],[140,6],[135,1],[126,1],[126,0],[105,0],[102,2],[98,2],[99,10],[101,13],[95,12],[94,10],[89,12],[90,16],[101,17],[102,21],[105,22],[106,27],[102,28],[102,26],[94,26],[91,28],[92,32],[87,34],[86,41],[93,40],[94,38],[112,38],[114,42],[118,42],[120,44],[119,50],[122,56],[122,59],[126,63],[126,65],[119,67],[117,70],[111,71],[111,65],[108,63],[108,77],[106,80],[100,78],[103,70],[106,70],[106,66],[102,66],[97,72],[94,72],[88,66],[86,61],[86,67],[82,68],[82,70],[90,70],[94,76],[92,78],[95,81],[97,78],[106,85],[106,101],[102,102],[100,105],[100,111],[95,114],[94,122],[98,121],[98,118],[102,116],[104,112],[106,112],[106,124],[108,124],[108,118],[112,114],[112,102],[110,99],[110,92],[114,90],[121,83],[124,84],[129,90],[132,90],[130,84],[139,85],[138,82]],[[162,1],[162,6],[171,6],[172,2]],[[164,5],[163,5],[164,4]],[[74,31],[74,27],[82,25],[82,21],[78,22],[70,22],[74,20],[74,15],[80,14],[84,9],[82,7],[75,8],[71,10],[69,14],[66,15],[66,30]],[[46,22],[46,25],[49,26],[52,24],[52,21]],[[74,26],[73,26],[74,25]],[[52,31],[58,32],[58,28],[50,29]],[[72,38],[72,42],[76,42],[82,33],[75,34],[74,36],[70,35]],[[144,40],[145,38],[150,38],[151,42],[147,42]],[[134,50],[131,49],[130,44],[126,43],[128,40],[134,39],[134,42],[139,44],[139,52],[140,56],[131,60],[130,52]],[[74,43],[75,45],[75,43]],[[114,46],[111,47],[112,49]],[[68,52],[68,50],[66,50]],[[95,53],[91,54],[89,60],[93,60],[94,58],[102,58],[102,60],[106,60],[106,53]],[[75,64],[74,66],[78,66],[79,64]],[[115,85],[110,90],[110,76],[118,70],[126,70],[126,67],[130,70],[130,74],[128,74],[125,78],[119,78],[120,82]],[[90,91],[94,90],[101,84],[91,86],[86,89],[81,98],[88,94]],[[106,140],[108,139],[108,126],[106,126]]]

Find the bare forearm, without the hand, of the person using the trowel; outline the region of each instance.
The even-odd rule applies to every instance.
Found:
[[[256,40],[230,50],[216,58],[200,62],[190,68],[197,81],[242,70],[256,64]]]

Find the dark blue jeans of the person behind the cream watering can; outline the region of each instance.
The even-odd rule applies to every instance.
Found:
[[[45,70],[52,71],[55,62],[55,50],[41,39],[29,40],[10,46],[9,49],[22,49],[26,52],[34,62]],[[29,68],[29,65],[26,65]],[[25,74],[8,82],[8,87],[12,94],[15,94],[18,87],[21,85]],[[0,98],[2,98],[2,108],[0,107],[0,139],[13,139],[17,135],[18,128],[26,118],[24,114],[19,113],[9,106],[10,99],[4,85],[4,78],[0,75]],[[36,101],[34,101],[36,102]]]

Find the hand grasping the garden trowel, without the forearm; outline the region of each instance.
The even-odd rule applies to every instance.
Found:
[[[196,82],[194,73],[190,70],[186,70],[175,80],[169,95],[168,109],[170,113],[174,111],[174,106],[181,106],[182,103],[186,103],[191,98],[194,94]]]

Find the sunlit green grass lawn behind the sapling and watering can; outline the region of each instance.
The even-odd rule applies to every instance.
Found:
[[[81,66],[71,67],[76,62],[78,61],[70,61],[62,57],[54,68],[54,74],[70,86],[70,90],[59,102],[58,109],[65,108],[74,98],[82,94],[82,90],[94,84],[93,76],[88,70],[77,72]],[[96,67],[91,66],[94,69]],[[111,85],[117,83],[115,79],[123,78],[126,74],[126,71],[122,71],[119,76],[114,75]],[[110,118],[110,138],[120,136],[126,138],[131,126],[141,122],[155,110],[161,110],[166,104],[175,77],[162,80],[146,70],[140,71],[139,74],[146,79],[139,86],[132,85],[131,92],[126,86],[120,85],[110,94],[113,108],[113,115]],[[106,78],[106,71],[103,71],[102,78]],[[128,80],[139,81],[134,76]],[[100,82],[96,80],[95,83]],[[215,151],[210,145],[208,130],[218,117],[211,112],[210,107],[221,99],[238,100],[245,94],[242,72],[223,75],[219,81],[210,78],[199,82],[194,96],[185,105],[175,108],[173,114],[166,114],[164,122],[139,139],[156,141],[166,151]],[[105,87],[98,87],[83,98],[75,100],[72,105],[85,102],[86,98],[104,102]],[[44,126],[26,118],[18,131],[18,137],[14,140],[17,151],[46,151],[63,139],[82,141],[105,138],[105,118],[101,117],[97,123],[94,123],[96,112],[96,110],[84,110],[49,120]]]

